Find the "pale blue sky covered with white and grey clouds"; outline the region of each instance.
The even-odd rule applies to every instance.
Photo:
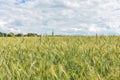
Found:
[[[0,32],[120,35],[120,0],[0,0]]]

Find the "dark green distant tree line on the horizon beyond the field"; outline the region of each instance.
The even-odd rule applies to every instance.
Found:
[[[23,33],[18,33],[18,34],[14,34],[13,32],[10,32],[10,33],[3,33],[3,32],[0,32],[0,37],[39,37],[39,36],[42,36],[42,35],[39,35],[37,33],[27,33],[27,34],[23,34]],[[51,35],[49,36],[54,36],[54,32],[52,32]]]

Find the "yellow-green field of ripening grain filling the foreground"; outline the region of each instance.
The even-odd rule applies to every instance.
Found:
[[[120,80],[120,37],[0,37],[0,80]]]

